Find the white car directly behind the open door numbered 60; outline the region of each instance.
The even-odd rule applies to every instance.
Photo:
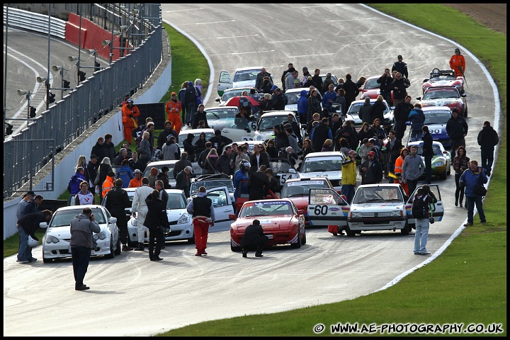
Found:
[[[341,190],[341,164],[345,156],[342,152],[311,152],[303,159],[300,178],[327,177],[334,190]]]

